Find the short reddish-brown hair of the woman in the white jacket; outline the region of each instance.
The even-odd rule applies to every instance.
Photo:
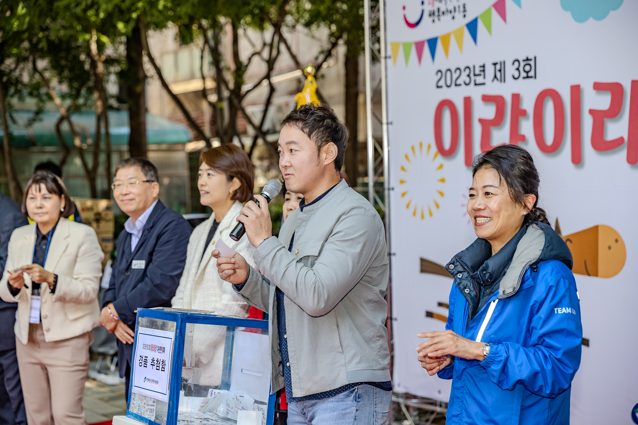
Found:
[[[223,173],[228,181],[237,177],[241,186],[235,191],[231,199],[239,202],[248,202],[253,196],[255,185],[255,170],[246,152],[232,143],[226,143],[216,148],[205,150],[200,155],[200,165],[202,162],[217,171]]]

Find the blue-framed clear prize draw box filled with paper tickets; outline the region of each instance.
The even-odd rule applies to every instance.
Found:
[[[140,308],[126,415],[147,424],[268,425],[268,321]]]

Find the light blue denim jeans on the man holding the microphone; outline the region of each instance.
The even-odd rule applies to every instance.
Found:
[[[359,385],[323,400],[288,403],[288,425],[384,425],[392,391]]]

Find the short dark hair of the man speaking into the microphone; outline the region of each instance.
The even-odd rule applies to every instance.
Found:
[[[314,103],[306,103],[293,109],[281,122],[281,127],[295,126],[315,142],[317,155],[321,149],[330,143],[337,147],[337,157],[334,159],[334,168],[341,171],[348,147],[348,127],[339,121],[334,110],[327,106],[317,106]]]

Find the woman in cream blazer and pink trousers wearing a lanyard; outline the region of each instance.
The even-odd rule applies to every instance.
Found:
[[[104,254],[93,228],[61,218],[73,213],[73,203],[55,176],[37,173],[29,180],[23,212],[27,207],[36,223],[11,234],[0,280],[0,297],[18,303],[15,338],[27,421],[84,425],[82,395],[93,328],[99,324],[97,294]],[[45,227],[42,217],[48,222]],[[43,267],[32,264],[36,238],[49,245],[46,254],[40,250]],[[30,314],[32,291],[38,287],[39,320],[37,311]],[[30,316],[36,317],[31,322],[39,323],[30,323]]]

